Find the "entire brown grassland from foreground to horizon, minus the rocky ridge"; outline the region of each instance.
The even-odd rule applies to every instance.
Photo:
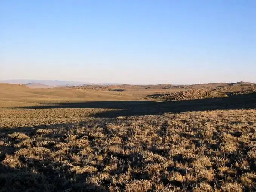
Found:
[[[233,86],[0,84],[0,191],[255,191],[256,93],[147,97]]]

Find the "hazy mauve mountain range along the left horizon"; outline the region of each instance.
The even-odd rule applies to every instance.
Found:
[[[119,83],[88,83],[88,82],[80,82],[80,81],[59,81],[59,80],[34,80],[34,79],[13,79],[13,80],[3,80],[0,83],[11,83],[11,84],[26,84],[28,86],[50,86],[50,87],[58,87],[58,86],[79,86],[79,85],[117,85]],[[39,83],[39,85],[36,85]]]

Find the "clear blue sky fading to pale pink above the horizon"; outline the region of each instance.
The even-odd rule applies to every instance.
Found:
[[[256,0],[0,0],[0,80],[256,82]]]

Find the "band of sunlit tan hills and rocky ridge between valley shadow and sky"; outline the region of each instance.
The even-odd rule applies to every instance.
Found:
[[[27,85],[26,85],[27,84]],[[197,85],[87,85],[57,86],[29,82],[23,85],[0,83],[0,98],[47,98],[59,100],[193,100],[198,98],[229,97],[256,92],[253,83],[210,83]],[[37,88],[37,89],[35,89]]]

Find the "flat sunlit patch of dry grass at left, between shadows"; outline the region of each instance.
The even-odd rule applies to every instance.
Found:
[[[0,109],[0,127],[33,127],[59,123],[79,123],[103,109]],[[107,111],[105,109],[105,111]]]

